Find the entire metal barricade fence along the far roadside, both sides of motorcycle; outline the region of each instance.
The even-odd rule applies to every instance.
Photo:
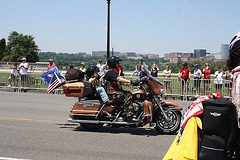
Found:
[[[43,73],[34,73],[29,72],[27,75],[27,89],[35,92],[47,93],[48,85],[40,79],[40,76]],[[11,87],[8,87],[9,81],[8,78],[11,77],[10,73],[0,72],[0,88],[10,88],[15,89],[18,92],[21,92],[21,76],[17,74],[14,77],[14,83],[11,82]],[[126,79],[130,79],[130,76],[125,76]],[[164,79],[163,77],[156,77],[160,83],[164,85],[165,97],[171,97],[173,99],[180,98],[184,101],[190,98],[197,98],[202,95],[208,95],[213,92],[218,91],[222,96],[226,98],[231,98],[231,81],[223,80],[222,84],[216,85],[214,79],[190,79],[184,81],[178,78],[171,78],[169,80]],[[136,77],[132,78],[133,80]],[[194,82],[195,81],[195,82]],[[135,86],[123,86],[124,90],[131,91]],[[59,87],[55,90],[55,94],[63,93],[62,87]]]

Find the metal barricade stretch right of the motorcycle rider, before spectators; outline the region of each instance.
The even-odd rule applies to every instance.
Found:
[[[130,77],[125,77],[130,79]],[[232,82],[229,80],[222,80],[217,84],[214,79],[190,79],[183,80],[178,78],[171,78],[169,80],[163,77],[156,77],[160,83],[164,85],[165,97],[172,97],[173,99],[180,98],[183,101],[195,99],[203,95],[209,95],[213,92],[219,92],[225,98],[231,98]],[[125,87],[126,90],[132,90],[132,87]]]

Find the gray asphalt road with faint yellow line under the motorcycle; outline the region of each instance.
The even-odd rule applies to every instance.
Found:
[[[146,128],[85,131],[67,122],[76,100],[64,95],[1,91],[0,159],[159,160],[176,136]],[[185,108],[191,102],[176,103]]]

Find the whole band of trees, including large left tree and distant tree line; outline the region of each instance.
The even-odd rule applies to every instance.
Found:
[[[7,40],[2,38],[0,40],[0,61],[9,61],[9,62],[19,62],[23,57],[27,58],[28,62],[48,62],[49,59],[53,59],[54,63],[60,69],[67,69],[69,64],[72,63],[76,68],[80,68],[80,63],[85,63],[86,67],[90,64],[96,65],[99,60],[103,62],[106,61],[106,56],[102,57],[93,57],[93,56],[82,56],[79,54],[73,53],[56,53],[56,52],[39,52],[40,49],[36,44],[35,37],[31,35],[23,35],[22,33],[18,33],[16,31],[12,31]],[[139,63],[139,60],[128,59],[127,57],[122,58],[122,66],[125,71],[133,71],[135,70],[135,66]],[[149,59],[148,57],[143,57],[143,61],[149,66],[149,70],[151,69],[153,63],[158,65],[160,71],[165,69],[165,64],[169,63],[169,61],[165,61],[163,58],[159,59]],[[202,70],[205,63],[209,63],[211,73],[214,73],[217,70],[218,66],[223,67],[223,70],[227,70],[225,65],[225,60],[220,62],[211,62],[211,61],[188,61],[188,67],[190,67],[191,71],[194,70],[194,64],[199,65],[199,69]],[[182,68],[182,61],[178,63],[171,63],[170,69],[172,73],[178,73]]]

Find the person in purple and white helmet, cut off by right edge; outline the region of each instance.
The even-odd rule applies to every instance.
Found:
[[[236,106],[238,122],[240,122],[240,32],[233,36],[229,44],[229,57],[226,62],[233,74],[232,102]],[[239,135],[239,132],[237,134]]]

